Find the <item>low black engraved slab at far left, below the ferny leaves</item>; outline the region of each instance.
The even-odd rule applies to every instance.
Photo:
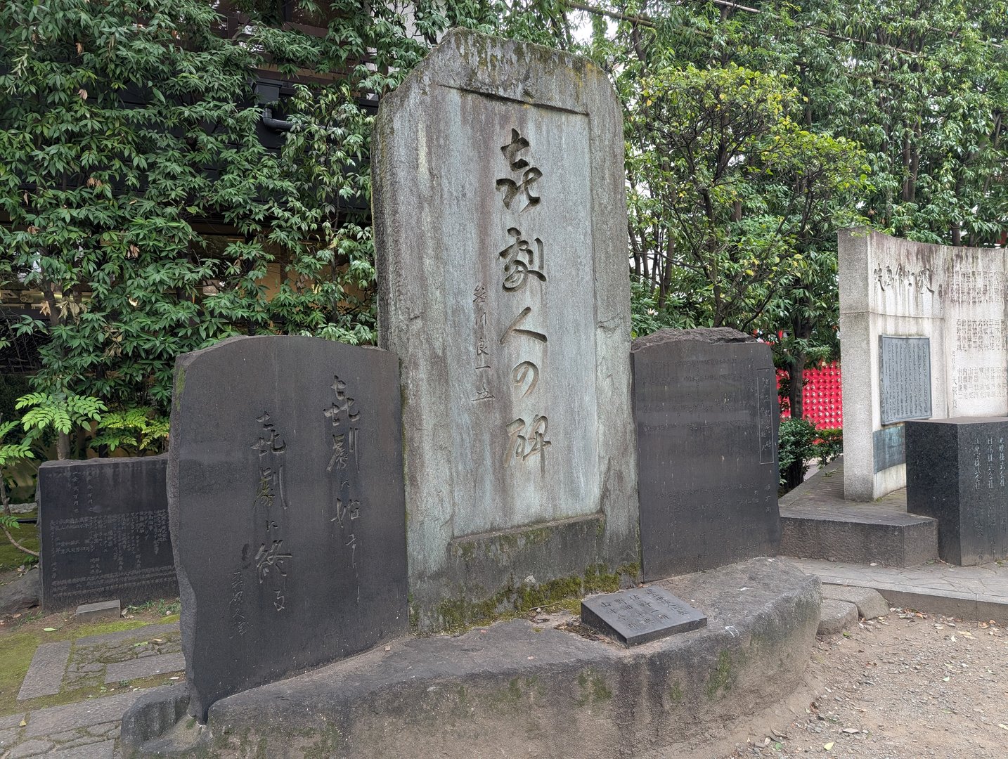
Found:
[[[45,462],[38,469],[42,607],[178,593],[168,534],[167,457]]]

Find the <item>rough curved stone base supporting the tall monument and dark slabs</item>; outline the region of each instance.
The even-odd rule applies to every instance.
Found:
[[[642,756],[799,683],[816,578],[756,558],[660,585],[705,611],[708,627],[633,649],[523,620],[401,639],[217,702],[206,729],[183,719],[163,732],[183,710],[141,701],[123,720],[124,756]]]

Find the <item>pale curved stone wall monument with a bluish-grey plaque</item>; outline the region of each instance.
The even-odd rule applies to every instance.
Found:
[[[1005,252],[841,232],[844,495],[906,483],[903,422],[1008,412]]]

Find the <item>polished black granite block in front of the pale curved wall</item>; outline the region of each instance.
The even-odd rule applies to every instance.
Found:
[[[1008,557],[1008,418],[906,422],[906,510],[938,522],[938,556],[960,565]]]

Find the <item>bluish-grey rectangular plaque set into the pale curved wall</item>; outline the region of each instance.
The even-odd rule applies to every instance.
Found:
[[[931,415],[930,341],[879,338],[882,423],[926,419]]]

